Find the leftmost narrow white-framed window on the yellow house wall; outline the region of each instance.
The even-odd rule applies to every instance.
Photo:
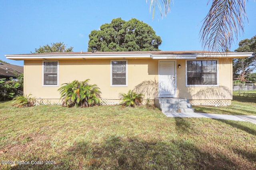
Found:
[[[43,69],[43,85],[58,85],[58,61],[44,61]]]

